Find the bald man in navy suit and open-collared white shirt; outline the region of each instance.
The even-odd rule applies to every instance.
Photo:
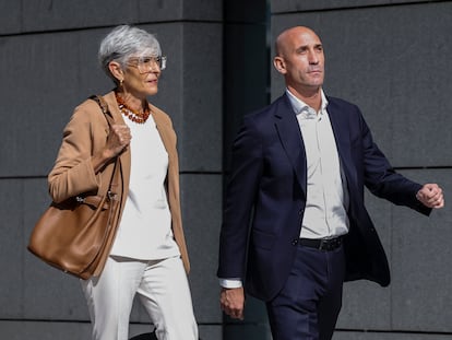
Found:
[[[323,47],[313,31],[283,32],[273,63],[286,93],[247,116],[234,144],[221,305],[241,319],[245,289],[266,303],[274,340],[326,340],[344,281],[390,283],[364,187],[427,215],[444,200],[438,185],[394,172],[358,107],[324,95]]]

